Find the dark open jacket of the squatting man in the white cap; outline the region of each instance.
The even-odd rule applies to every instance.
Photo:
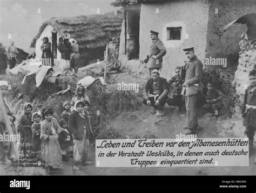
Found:
[[[145,99],[149,98],[149,96],[147,95],[147,92],[153,95],[153,82],[154,82],[153,78],[150,78],[143,89],[143,96]],[[161,100],[167,95],[169,88],[165,78],[159,77],[158,82],[159,82],[159,90],[160,90],[158,99]]]

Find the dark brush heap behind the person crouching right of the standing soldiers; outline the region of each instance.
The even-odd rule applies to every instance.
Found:
[[[220,90],[225,94],[225,89],[223,87],[224,80],[220,77],[220,72],[217,69],[213,68],[204,68],[203,69],[203,97],[206,98],[207,94],[207,84],[211,81],[215,89]]]

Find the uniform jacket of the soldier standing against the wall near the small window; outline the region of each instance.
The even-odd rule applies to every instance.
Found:
[[[152,41],[152,44],[150,45],[150,55],[149,60],[145,59],[144,62],[147,63],[149,61],[149,65],[147,65],[147,68],[161,68],[162,67],[162,61],[163,56],[166,54],[166,48],[164,47],[163,42],[156,38]],[[151,58],[152,55],[156,55],[157,59]]]

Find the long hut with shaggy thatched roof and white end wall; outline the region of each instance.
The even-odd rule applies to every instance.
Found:
[[[112,37],[119,38],[122,21],[122,10],[118,10],[116,15],[114,15],[114,12],[109,12],[105,15],[53,17],[42,24],[39,32],[32,39],[30,47],[35,47],[36,55],[41,57],[42,38],[47,36],[49,41],[53,41],[52,31],[57,31],[58,36],[60,30],[66,29],[70,37],[77,40],[80,53],[83,51],[91,52],[92,49],[98,49],[102,52],[102,48]],[[54,42],[52,42],[53,45]],[[56,48],[52,47],[53,55],[54,49]],[[58,55],[60,54],[57,51],[57,57],[55,56],[55,58],[58,59]],[[104,52],[102,55],[104,55]]]

